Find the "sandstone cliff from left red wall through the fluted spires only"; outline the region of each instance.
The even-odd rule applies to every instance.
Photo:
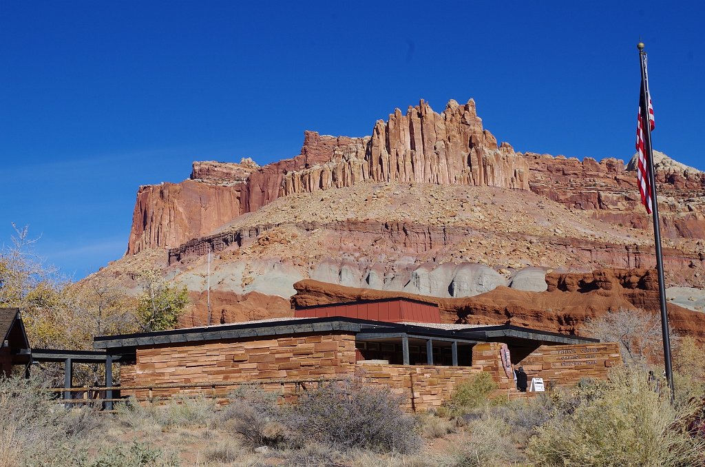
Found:
[[[448,102],[438,114],[421,101],[405,115],[396,109],[386,123],[378,121],[371,138],[326,136],[305,132],[300,154],[293,159],[259,167],[194,162],[192,181],[204,209],[193,224],[188,217],[171,215],[176,206],[192,203],[189,187],[163,184],[142,187],[137,194],[128,255],[145,248],[172,248],[255,212],[282,195],[314,193],[353,186],[361,181],[414,181],[437,184],[529,188],[529,166],[520,154],[482,128],[475,104]],[[161,189],[169,186],[168,190]],[[209,188],[209,187],[218,188]],[[181,196],[185,198],[181,199]],[[223,198],[237,200],[227,210],[208,209]],[[164,215],[163,212],[167,214]]]

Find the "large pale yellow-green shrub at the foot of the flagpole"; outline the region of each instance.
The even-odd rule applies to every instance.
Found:
[[[694,406],[671,406],[643,372],[613,370],[606,384],[556,393],[551,419],[529,439],[527,455],[540,465],[696,466],[705,440],[687,421]]]

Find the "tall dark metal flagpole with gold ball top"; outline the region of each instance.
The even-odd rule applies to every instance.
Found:
[[[661,306],[661,334],[663,336],[663,360],[666,366],[666,380],[673,401],[673,363],[670,356],[670,335],[668,330],[668,311],[666,310],[666,286],[663,279],[663,253],[661,253],[661,222],[658,218],[658,201],[656,197],[656,174],[654,171],[654,152],[651,149],[651,121],[649,119],[649,82],[646,79],[646,52],[644,42],[637,44],[639,63],[642,66],[642,95],[640,104],[642,128],[644,131],[644,152],[649,159],[649,181],[651,181],[651,215],[654,217],[654,243],[656,245],[656,271],[658,272],[658,304]]]

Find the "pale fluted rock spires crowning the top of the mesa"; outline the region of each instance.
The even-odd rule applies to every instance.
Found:
[[[529,188],[528,166],[507,143],[482,128],[475,103],[450,101],[437,114],[423,100],[377,121],[372,138],[333,152],[328,164],[287,174],[284,194],[312,193],[359,181]]]

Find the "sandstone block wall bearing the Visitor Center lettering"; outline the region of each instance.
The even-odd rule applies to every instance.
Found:
[[[547,389],[572,386],[581,378],[604,380],[608,370],[622,363],[618,344],[572,344],[540,346],[515,368],[524,367],[529,378],[544,378]]]

